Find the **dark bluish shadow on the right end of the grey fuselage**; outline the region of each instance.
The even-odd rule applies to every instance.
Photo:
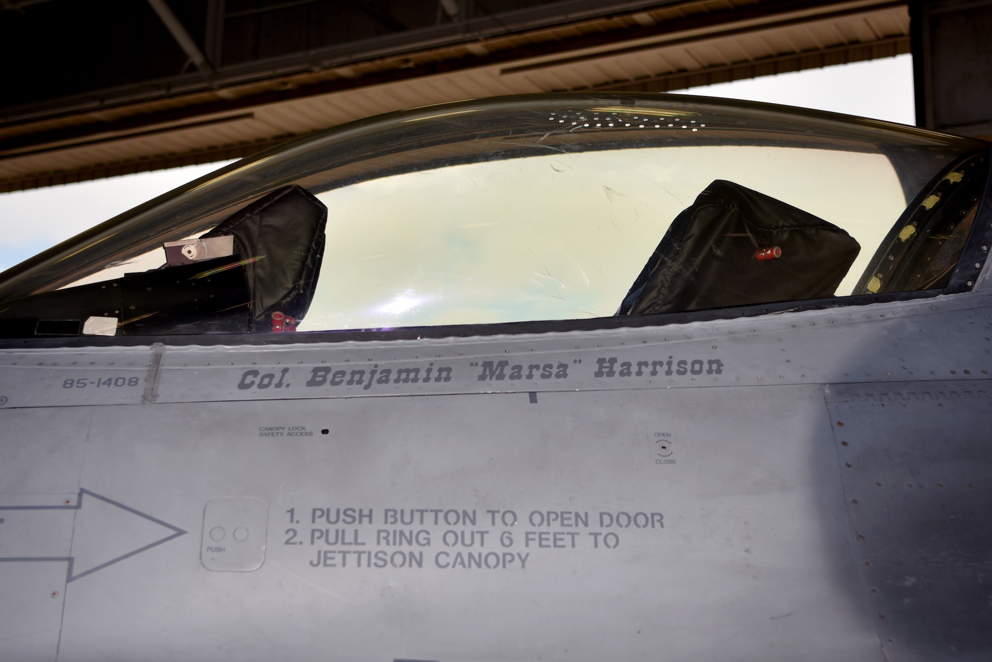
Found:
[[[939,317],[852,354],[843,372],[865,382],[824,386],[852,550],[836,571],[859,575],[851,600],[894,662],[992,659],[992,381],[955,378],[989,363],[989,324]],[[910,381],[870,382],[886,372]]]

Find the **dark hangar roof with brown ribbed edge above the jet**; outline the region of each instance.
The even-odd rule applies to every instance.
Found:
[[[0,102],[0,191],[243,157],[464,98],[667,91],[910,52],[906,5],[882,0],[3,6],[7,61],[30,40],[50,52]]]

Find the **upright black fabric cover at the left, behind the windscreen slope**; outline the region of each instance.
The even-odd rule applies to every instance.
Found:
[[[203,237],[234,235],[252,296],[253,331],[268,331],[273,312],[307,314],[323,258],[327,207],[306,188],[278,188]],[[254,260],[254,262],[251,262]]]

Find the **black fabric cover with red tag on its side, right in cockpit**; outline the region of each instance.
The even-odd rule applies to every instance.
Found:
[[[772,247],[782,250],[781,258],[755,258]],[[860,250],[831,223],[716,179],[672,222],[618,314],[832,296]]]

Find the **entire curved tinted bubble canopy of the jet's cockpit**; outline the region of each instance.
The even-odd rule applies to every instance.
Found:
[[[948,285],[983,143],[675,95],[363,120],[229,165],[0,275],[0,336],[390,329]]]

